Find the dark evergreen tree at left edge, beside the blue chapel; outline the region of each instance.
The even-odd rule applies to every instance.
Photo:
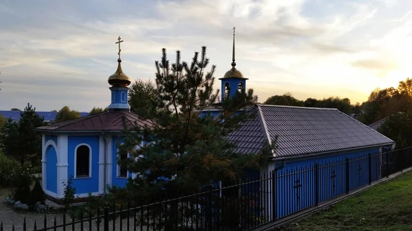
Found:
[[[1,128],[0,145],[4,154],[21,165],[27,161],[40,160],[41,134],[34,128],[44,124],[44,118],[38,116],[36,108],[27,104],[24,112],[21,112],[19,123],[9,118]]]

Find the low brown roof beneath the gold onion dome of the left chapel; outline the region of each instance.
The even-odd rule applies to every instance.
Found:
[[[120,132],[133,128],[135,125],[152,127],[151,121],[140,119],[137,114],[127,110],[108,111],[100,114],[93,114],[87,117],[80,117],[70,121],[52,123],[51,125],[36,127],[41,132],[95,132],[113,131]]]

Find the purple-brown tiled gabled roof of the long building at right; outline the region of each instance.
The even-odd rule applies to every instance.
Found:
[[[258,153],[277,138],[276,157],[390,145],[391,139],[334,108],[257,105],[257,116],[231,132],[236,151]]]

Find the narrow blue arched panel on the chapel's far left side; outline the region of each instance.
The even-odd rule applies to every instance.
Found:
[[[57,193],[57,153],[52,145],[46,148],[46,189]]]

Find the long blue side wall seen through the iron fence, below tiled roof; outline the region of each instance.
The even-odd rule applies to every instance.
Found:
[[[349,177],[349,191],[369,184],[369,154],[371,154],[371,181],[380,179],[382,173],[378,153],[379,149],[374,148],[286,162],[284,168],[277,171],[277,178],[275,178],[277,218],[345,194],[347,177]],[[349,158],[348,163],[346,158]],[[318,169],[315,167],[316,162],[318,162]],[[277,164],[275,167],[280,165]],[[315,192],[319,195],[317,198]]]

